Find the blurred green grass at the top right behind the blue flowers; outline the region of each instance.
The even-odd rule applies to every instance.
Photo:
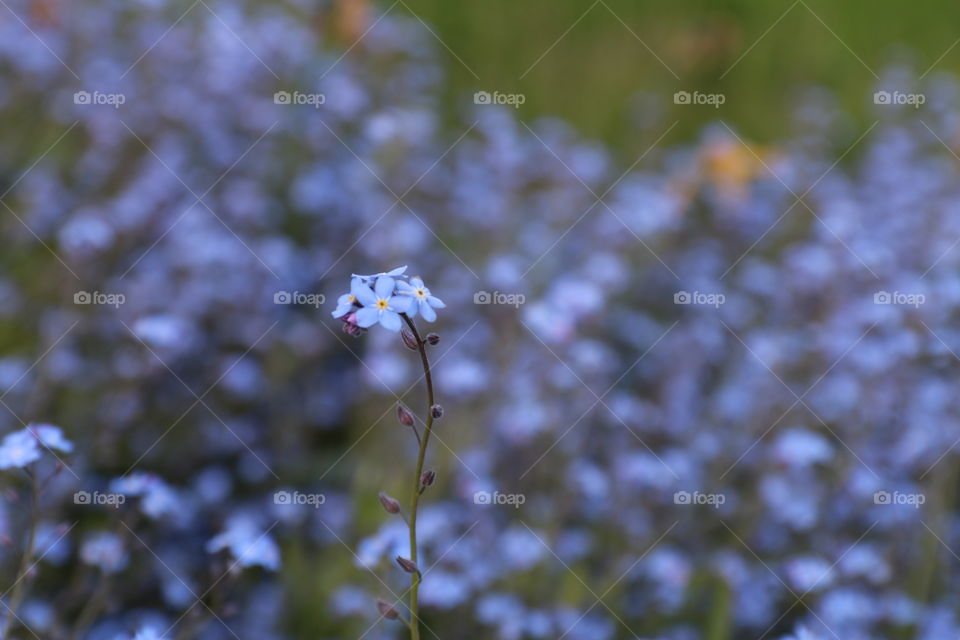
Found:
[[[960,71],[960,46],[944,56],[960,18],[960,4],[947,0],[603,2],[405,0],[449,47],[438,44],[450,113],[478,89],[520,92],[524,119],[557,115],[621,150],[674,121],[672,141],[718,118],[753,139],[776,139],[805,86],[835,91],[866,120],[874,73],[891,64],[918,75]],[[676,106],[678,90],[721,92],[726,104]],[[659,117],[656,100],[641,94],[659,97]],[[651,121],[639,136],[638,123]]]

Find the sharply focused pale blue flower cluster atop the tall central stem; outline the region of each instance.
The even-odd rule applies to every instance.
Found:
[[[434,309],[447,305],[432,295],[423,280],[415,276],[407,279],[407,267],[397,267],[386,273],[370,276],[354,274],[350,293],[337,299],[334,318],[343,318],[344,331],[359,335],[363,329],[379,324],[390,331],[399,331],[401,314],[415,318],[418,314],[427,322],[437,319]]]

